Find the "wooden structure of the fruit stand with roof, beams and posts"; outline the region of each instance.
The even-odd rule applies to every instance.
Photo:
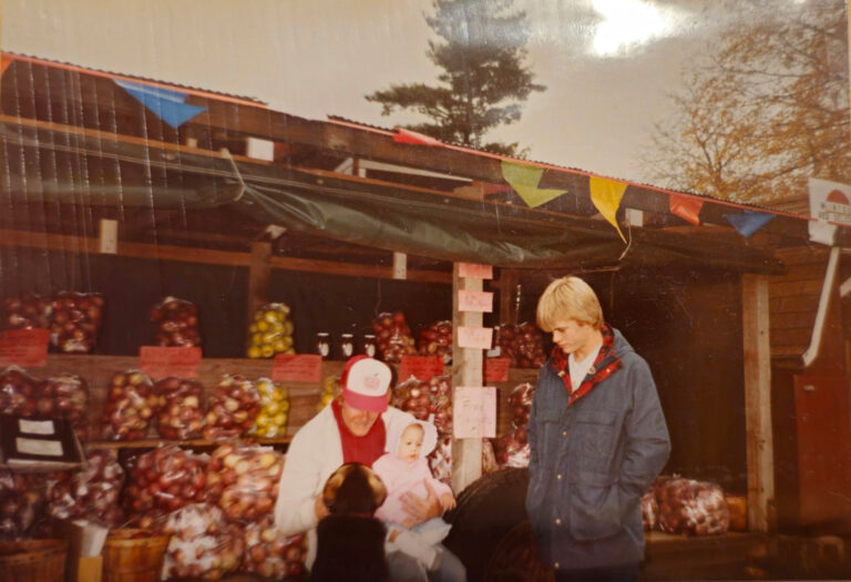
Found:
[[[83,70],[41,61],[38,59],[10,55],[12,65],[2,85],[0,100],[0,125],[7,130],[18,131],[21,135],[31,132],[32,135],[50,135],[52,142],[59,141],[69,149],[85,149],[91,141],[106,144],[109,149],[119,151],[122,147],[144,150],[147,155],[148,173],[160,175],[174,171],[171,161],[205,159],[209,163],[233,164],[236,172],[229,172],[230,182],[243,181],[239,172],[256,170],[257,172],[273,171],[275,167],[297,167],[315,181],[324,185],[335,181],[345,182],[351,188],[361,191],[397,187],[408,193],[423,197],[442,200],[448,206],[473,200],[484,205],[492,203],[504,205],[514,204],[513,194],[507,188],[492,186],[504,184],[498,156],[484,152],[471,152],[458,147],[429,147],[417,144],[402,144],[393,140],[393,132],[363,126],[341,120],[316,122],[303,120],[284,113],[269,111],[259,103],[244,98],[221,95],[199,90],[183,88],[188,93],[188,103],[203,104],[206,111],[191,123],[174,130],[153,115],[144,115],[139,104],[132,100],[116,96],[112,88],[112,73]],[[11,75],[11,76],[10,76]],[[151,84],[163,83],[151,80],[135,81]],[[50,82],[48,82],[50,80]],[[11,83],[10,83],[11,81]],[[51,93],[50,89],[53,92]],[[10,96],[12,95],[12,96]],[[21,99],[21,95],[29,95]],[[99,109],[98,103],[109,104],[110,111]],[[69,104],[71,106],[69,106]],[[109,109],[107,108],[107,109]],[[109,118],[110,123],[106,123]],[[104,131],[104,127],[110,130]],[[14,144],[17,135],[9,134],[8,143]],[[274,143],[273,160],[259,160],[249,155],[252,144],[257,140]],[[41,147],[41,146],[39,146]],[[219,153],[227,147],[227,153]],[[112,152],[109,150],[107,153]],[[110,154],[111,155],[111,154]],[[90,156],[91,157],[91,156]],[[106,155],[105,157],[109,157]],[[349,174],[336,172],[340,159],[349,159]],[[381,178],[379,174],[368,174],[358,169],[359,161],[389,164],[385,167]],[[78,162],[84,164],[85,162]],[[116,162],[117,164],[117,162]],[[168,165],[172,164],[172,165]],[[238,166],[237,166],[238,164]],[[311,165],[312,164],[312,165]],[[366,165],[366,164],[363,164]],[[219,166],[216,166],[219,167]],[[239,170],[242,169],[242,170]],[[409,171],[413,170],[413,173]],[[555,166],[546,166],[546,186],[564,187],[572,194],[587,191],[588,174],[580,171],[565,171]],[[438,190],[433,182],[439,178],[423,173],[439,173],[448,180],[458,177],[461,185],[454,184],[451,190]],[[236,174],[236,176],[234,176]],[[388,182],[388,176],[401,180],[399,183]],[[424,176],[424,177],[423,177]],[[236,180],[234,180],[236,177]],[[432,183],[429,184],[429,180]],[[419,182],[418,182],[419,181]],[[24,180],[25,182],[25,180]],[[336,183],[336,182],[335,182]],[[422,185],[429,184],[428,186]],[[542,182],[543,183],[543,182]],[[419,185],[418,185],[419,184]],[[166,184],[167,186],[167,184]],[[27,186],[30,187],[30,186]],[[38,185],[35,186],[38,187]],[[243,188],[245,183],[243,183]],[[489,193],[490,192],[490,193]],[[494,193],[495,192],[495,193]],[[239,193],[242,196],[242,192]],[[638,184],[629,184],[623,200],[628,208],[648,213],[648,216],[663,215],[668,212],[668,192]],[[574,221],[585,225],[594,233],[609,228],[605,223],[592,219],[596,210],[585,201],[587,196],[570,196],[566,207],[556,211],[540,211],[536,215],[541,224],[554,221]],[[79,202],[79,198],[78,198]],[[706,202],[710,202],[707,200]],[[83,203],[85,204],[85,203]],[[89,211],[91,212],[91,210]],[[725,212],[730,207],[704,204],[701,221],[709,225],[725,225]],[[392,265],[388,264],[390,251],[372,249],[359,261],[339,261],[329,256],[317,258],[309,254],[299,256],[291,253],[281,254],[264,235],[265,225],[255,224],[252,231],[246,221],[234,221],[235,227],[228,234],[211,233],[204,228],[172,229],[165,233],[143,232],[157,225],[158,218],[154,208],[150,208],[148,221],[141,221],[127,233],[121,233],[114,254],[119,261],[142,259],[165,263],[193,265],[228,266],[247,269],[247,298],[245,313],[252,314],[270,297],[273,274],[276,270],[307,272],[320,275],[371,277],[377,279],[394,279]],[[104,241],[96,234],[100,219],[115,219],[114,213],[105,213],[102,217],[91,213],[92,222],[84,225],[80,232],[66,232],[68,225],[61,221],[43,217],[43,228],[28,229],[0,224],[0,249],[35,248],[45,252],[70,253],[73,255],[96,255],[102,252]],[[137,216],[139,217],[139,216]],[[782,218],[782,217],[781,217]],[[50,223],[50,224],[49,224]],[[777,219],[769,223],[765,229],[766,237],[773,236],[806,236],[806,224],[802,221]],[[184,221],[184,226],[186,225]],[[196,223],[197,224],[197,223]],[[681,224],[681,223],[680,223]],[[644,241],[654,244],[683,245],[693,252],[701,253],[706,261],[721,261],[726,252],[742,253],[744,246],[734,237],[728,236],[729,229],[710,226],[708,232],[699,228],[670,226],[664,221],[652,227],[650,221],[644,228],[636,226],[636,233],[645,236]],[[667,226],[667,228],[666,228]],[[770,243],[775,238],[767,238]],[[311,244],[315,241],[311,241]],[[714,249],[707,253],[707,245]],[[345,247],[344,244],[341,247]],[[357,245],[356,245],[357,246]],[[335,247],[335,248],[341,248]],[[748,252],[752,249],[748,248]],[[362,252],[362,248],[361,251]],[[332,253],[331,253],[332,254]],[[295,255],[295,256],[294,256]],[[348,256],[348,255],[347,255]],[[738,256],[738,255],[736,255]],[[2,255],[0,255],[0,258]],[[475,258],[475,257],[472,257]],[[457,329],[461,325],[481,326],[481,314],[463,313],[458,309],[458,290],[482,290],[481,279],[462,278],[458,274],[459,261],[429,261],[411,254],[404,279],[423,284],[443,284],[452,286],[452,320]],[[470,257],[466,257],[470,261]],[[741,308],[741,346],[745,425],[747,449],[747,498],[748,529],[753,534],[773,532],[777,524],[775,512],[773,482],[773,446],[771,420],[771,353],[769,345],[769,280],[770,274],[777,272],[778,265],[767,261],[759,265],[758,259],[747,265],[739,265],[740,308]],[[472,261],[471,261],[472,262]],[[604,262],[605,263],[605,262]],[[162,264],[162,263],[161,263]],[[720,263],[719,263],[720,264]],[[451,265],[451,273],[447,266]],[[580,270],[603,266],[593,258],[575,265]],[[132,268],[132,267],[127,267]],[[555,272],[570,272],[562,265]],[[516,285],[524,282],[529,272],[522,268],[499,269],[499,277],[490,283],[489,289],[499,295],[500,320],[507,321],[516,316],[514,293]],[[514,312],[514,313],[513,313]],[[452,379],[454,386],[481,386],[483,353],[480,349],[460,348],[457,338],[453,345]],[[93,388],[92,419],[98,421],[102,407],[103,394],[99,387],[104,386],[106,378],[115,370],[135,366],[137,359],[131,356],[60,356],[51,355],[48,365],[35,374],[47,376],[53,371],[73,371],[90,380]],[[339,374],[341,363],[326,361],[322,366],[322,378]],[[244,374],[247,377],[266,376],[270,364],[264,360],[240,358],[204,358],[199,367],[199,379],[206,386],[213,386],[222,371]],[[507,391],[523,381],[533,381],[536,370],[512,369],[507,382],[498,386],[501,406],[501,429],[507,422],[504,413],[504,400]],[[290,389],[291,411],[287,437],[271,439],[267,442],[286,446],[289,437],[306,422],[316,411],[322,382],[294,385]],[[152,447],[161,441],[139,441],[106,443],[101,447]],[[192,441],[188,445],[204,447],[211,441]],[[462,490],[481,476],[481,440],[461,439],[453,445],[453,483],[457,490]],[[729,537],[729,543],[716,539],[716,550],[724,553],[730,548],[748,545],[753,538]],[[688,548],[706,545],[706,540],[689,540],[685,538],[659,537],[648,538],[648,554],[664,555],[667,550],[662,548]],[[761,542],[760,542],[761,543]],[[711,543],[710,543],[711,544]],[[656,550],[654,550],[656,548]],[[673,551],[673,550],[671,550]],[[670,552],[668,552],[670,553]]]

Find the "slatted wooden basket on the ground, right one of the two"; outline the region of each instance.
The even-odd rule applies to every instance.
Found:
[[[113,530],[103,545],[103,582],[156,582],[168,537],[150,530]]]

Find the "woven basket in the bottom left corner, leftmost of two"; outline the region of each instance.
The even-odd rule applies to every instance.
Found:
[[[3,582],[57,582],[65,579],[64,540],[0,542],[0,580]]]

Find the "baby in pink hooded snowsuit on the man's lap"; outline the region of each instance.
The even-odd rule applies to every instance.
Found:
[[[376,517],[387,523],[387,551],[402,551],[419,560],[428,570],[440,564],[440,542],[449,534],[451,525],[433,518],[411,528],[411,518],[402,507],[402,496],[412,493],[426,498],[428,482],[440,500],[443,511],[455,507],[452,489],[431,476],[426,457],[438,443],[438,430],[430,422],[416,421],[399,433],[387,435],[390,451],[372,463],[372,470],[387,487],[387,499],[376,511]]]

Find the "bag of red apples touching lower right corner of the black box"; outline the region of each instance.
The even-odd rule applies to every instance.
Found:
[[[117,451],[85,451],[85,467],[47,477],[47,511],[57,519],[86,519],[106,528],[124,521],[119,493],[124,484],[124,469]]]

